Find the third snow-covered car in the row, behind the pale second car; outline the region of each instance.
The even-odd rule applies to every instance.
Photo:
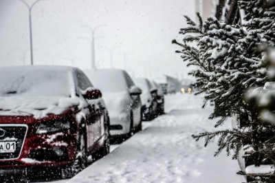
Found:
[[[142,89],[142,120],[153,120],[157,116],[157,88],[147,78],[133,78]]]

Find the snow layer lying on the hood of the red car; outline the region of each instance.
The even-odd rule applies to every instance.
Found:
[[[62,114],[69,107],[79,104],[79,98],[0,97],[0,116],[33,116],[40,119],[47,114]]]

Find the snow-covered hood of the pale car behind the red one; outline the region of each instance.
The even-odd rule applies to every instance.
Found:
[[[105,92],[103,98],[110,118],[125,118],[131,107],[131,97],[128,92]]]

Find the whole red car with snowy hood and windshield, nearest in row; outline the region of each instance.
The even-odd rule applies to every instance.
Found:
[[[101,96],[75,67],[1,67],[1,174],[71,177],[109,153]]]

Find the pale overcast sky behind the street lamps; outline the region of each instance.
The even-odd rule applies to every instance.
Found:
[[[35,0],[25,0],[30,6]],[[181,76],[186,69],[179,49],[179,29],[184,14],[194,19],[195,1],[190,0],[44,0],[32,9],[34,65],[72,65],[91,68],[89,29],[96,30],[96,65],[110,67],[113,49],[115,68],[132,76],[157,78]],[[85,38],[85,39],[83,39]],[[125,54],[125,57],[124,55]],[[25,59],[24,59],[25,58]],[[0,0],[0,66],[30,65],[28,8],[19,0]]]

